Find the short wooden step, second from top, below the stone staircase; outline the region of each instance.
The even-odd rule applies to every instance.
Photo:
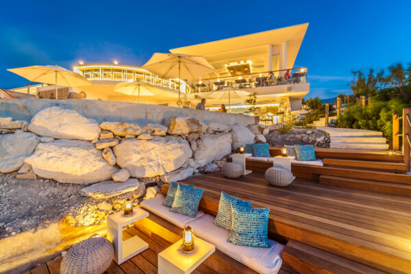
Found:
[[[384,171],[396,171],[406,173],[407,166],[402,162],[375,162],[364,160],[345,160],[345,159],[323,159],[324,166],[347,167],[353,169],[372,169]]]

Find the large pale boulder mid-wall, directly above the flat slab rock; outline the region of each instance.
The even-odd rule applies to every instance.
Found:
[[[113,151],[117,164],[138,178],[175,171],[188,159],[182,145],[175,141],[127,139]]]

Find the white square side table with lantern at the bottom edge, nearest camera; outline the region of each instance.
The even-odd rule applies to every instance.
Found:
[[[158,253],[158,274],[192,273],[216,250],[209,242],[195,238],[194,251],[186,254],[182,251],[182,242],[183,240],[179,240]]]

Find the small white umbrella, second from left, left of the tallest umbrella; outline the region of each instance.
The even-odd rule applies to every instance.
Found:
[[[141,96],[154,96],[164,91],[172,91],[168,88],[162,88],[160,86],[153,86],[152,84],[145,82],[122,82],[114,86],[114,91],[121,92],[127,95],[138,96],[138,103],[140,103]]]

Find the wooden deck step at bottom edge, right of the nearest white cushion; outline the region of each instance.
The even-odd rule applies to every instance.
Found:
[[[336,256],[332,253],[289,240],[282,252],[284,262],[301,274],[382,274],[364,264]]]

